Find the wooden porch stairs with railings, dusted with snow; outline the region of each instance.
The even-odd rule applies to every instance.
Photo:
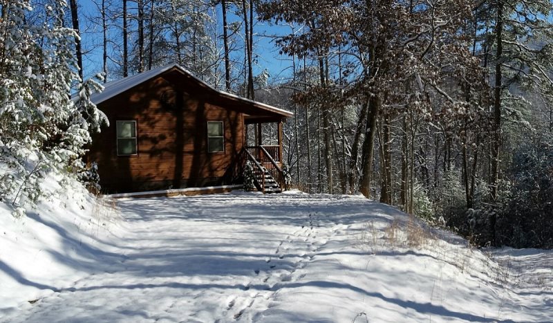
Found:
[[[264,194],[281,193],[284,187],[284,176],[279,164],[263,147],[245,147],[241,154],[241,169],[250,161],[254,169],[254,185]]]

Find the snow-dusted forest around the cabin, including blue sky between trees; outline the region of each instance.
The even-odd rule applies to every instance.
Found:
[[[0,198],[16,211],[50,167],[89,180],[91,93],[176,62],[294,112],[284,156],[299,190],[363,194],[478,246],[553,248],[550,0],[0,7]]]

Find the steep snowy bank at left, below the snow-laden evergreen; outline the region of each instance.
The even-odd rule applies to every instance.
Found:
[[[94,273],[117,241],[112,232],[121,221],[113,207],[79,183],[68,183],[68,190],[59,180],[47,177],[46,197],[35,207],[23,202],[26,214],[15,216],[0,203],[0,320],[15,306]]]

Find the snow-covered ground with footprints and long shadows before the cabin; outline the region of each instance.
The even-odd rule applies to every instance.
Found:
[[[2,228],[0,321],[553,321],[552,252],[481,252],[360,197],[233,192],[84,209]]]

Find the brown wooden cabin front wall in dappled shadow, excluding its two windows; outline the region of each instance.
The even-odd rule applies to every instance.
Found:
[[[93,138],[104,192],[227,184],[243,146],[243,113],[218,105],[182,75],[162,75],[98,105],[110,126]],[[117,120],[136,120],[138,154],[117,155]],[[207,152],[207,121],[223,121],[225,152]]]

